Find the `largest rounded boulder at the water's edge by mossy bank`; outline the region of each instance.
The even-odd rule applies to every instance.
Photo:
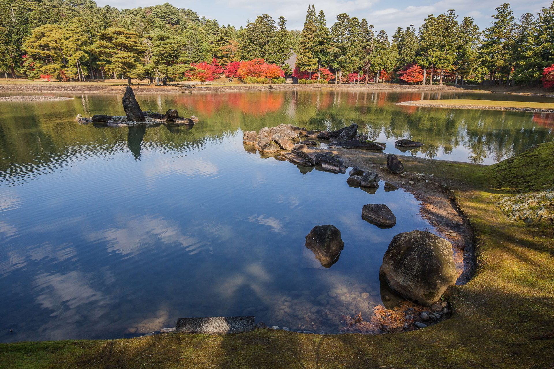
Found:
[[[399,233],[384,253],[379,274],[403,297],[429,306],[456,282],[452,255],[452,244],[433,233]]]

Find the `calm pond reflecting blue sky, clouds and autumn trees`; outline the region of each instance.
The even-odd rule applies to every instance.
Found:
[[[243,131],[358,123],[386,152],[477,163],[552,139],[549,115],[393,105],[438,95],[137,95],[143,110],[200,117],[192,129],[73,121],[120,115],[116,95],[0,103],[0,341],[129,337],[219,315],[337,332],[341,314],[367,316],[382,303],[378,269],[392,237],[434,231],[418,201],[383,181],[366,192],[347,174],[260,155]],[[440,95],[456,96],[468,94]],[[425,146],[400,152],[399,138]],[[397,225],[362,220],[368,203],[388,205]],[[324,224],[345,242],[330,268],[304,246]]]

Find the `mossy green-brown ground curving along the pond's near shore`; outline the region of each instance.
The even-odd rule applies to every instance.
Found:
[[[444,180],[475,231],[478,271],[447,291],[452,318],[387,335],[163,334],[0,345],[2,368],[554,368],[552,228],[510,222],[497,194],[554,183],[554,143],[490,167],[403,157]],[[373,163],[384,164],[386,155]],[[442,173],[444,172],[444,173]],[[543,238],[544,237],[544,238]],[[17,306],[14,306],[17,308]]]

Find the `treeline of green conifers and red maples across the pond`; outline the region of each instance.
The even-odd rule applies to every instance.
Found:
[[[169,3],[120,11],[91,0],[0,0],[0,14],[6,78],[158,77],[165,84],[223,74],[270,81],[292,74],[306,83],[554,83],[554,2],[519,19],[502,4],[483,30],[453,10],[431,14],[418,28],[397,28],[391,38],[346,13],[329,28],[314,6],[302,30],[288,30],[284,17],[268,14],[237,29]],[[287,64],[292,51],[295,65]],[[241,78],[230,68],[258,74]]]

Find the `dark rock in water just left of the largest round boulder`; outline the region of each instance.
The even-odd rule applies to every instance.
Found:
[[[315,226],[306,236],[306,247],[314,254],[322,266],[329,268],[340,255],[345,243],[341,231],[333,225]]]

